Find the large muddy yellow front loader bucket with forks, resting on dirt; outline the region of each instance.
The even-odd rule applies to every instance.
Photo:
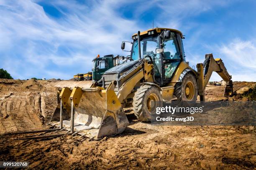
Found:
[[[64,100],[68,95],[69,101]],[[129,124],[114,90],[65,87],[59,98],[59,109],[56,108],[52,121],[63,117],[63,126],[69,127],[71,133],[79,131],[90,138],[103,138],[122,133]],[[60,112],[62,116],[57,116]]]

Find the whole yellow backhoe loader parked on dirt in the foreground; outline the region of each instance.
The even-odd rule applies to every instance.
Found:
[[[124,107],[132,105],[136,117],[149,122],[162,102],[196,101],[198,95],[204,101],[213,71],[227,82],[224,96],[232,95],[231,75],[222,60],[207,54],[192,69],[185,61],[183,38],[169,28],[138,31],[132,35],[131,55],[119,57],[126,62],[105,70],[90,88],[59,88],[52,123],[92,138],[122,133],[129,124]]]

